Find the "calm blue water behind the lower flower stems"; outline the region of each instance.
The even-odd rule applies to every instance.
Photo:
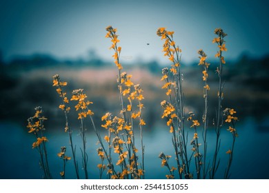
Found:
[[[239,138],[235,145],[235,159],[232,163],[231,179],[269,179],[269,154],[267,141],[269,139],[269,124],[265,121],[261,124],[255,123],[253,119],[239,122],[237,131]],[[27,133],[27,130],[12,123],[0,123],[0,179],[41,179],[42,172],[39,168],[39,156],[37,150],[32,149],[34,137]],[[62,170],[62,160],[57,153],[60,147],[66,145],[69,150],[67,154],[71,156],[68,142],[68,134],[64,132],[51,132],[46,130],[49,139],[47,143],[50,169],[54,179],[60,179],[59,172]],[[190,137],[192,137],[192,131]],[[77,143],[77,157],[80,161],[81,138],[78,132],[74,131],[74,141]],[[221,133],[221,165],[217,178],[223,178],[223,170],[227,163],[228,155],[225,152],[231,146],[230,132],[223,130]],[[208,140],[214,143],[215,132],[208,132]],[[96,149],[99,147],[95,134],[88,134],[88,171],[91,179],[99,179],[97,164],[99,158]],[[139,141],[136,141],[137,146]],[[146,145],[146,179],[165,179],[166,167],[161,167],[161,160],[158,158],[160,152],[174,155],[172,150],[171,135],[167,127],[156,128],[155,131],[144,133],[144,145]],[[190,147],[190,146],[189,146]],[[212,145],[209,144],[208,152],[213,152]],[[211,156],[208,154],[208,159]],[[170,160],[171,165],[175,165],[174,159]],[[81,163],[79,163],[81,166]],[[83,170],[80,170],[83,177]],[[103,175],[105,178],[106,176]],[[72,161],[67,163],[66,178],[75,179]]]

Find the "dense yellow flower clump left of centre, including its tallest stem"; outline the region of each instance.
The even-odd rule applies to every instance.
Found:
[[[132,75],[127,74],[127,72],[121,72],[123,69],[122,65],[119,63],[119,56],[121,53],[121,47],[117,45],[119,39],[116,34],[117,29],[108,26],[106,28],[107,34],[106,37],[110,38],[112,45],[110,49],[114,50],[114,63],[118,68],[118,89],[119,97],[121,102],[121,111],[120,116],[112,116],[110,112],[102,116],[101,121],[105,123],[101,125],[108,131],[103,139],[108,143],[108,150],[101,148],[102,152],[107,155],[106,159],[108,160],[108,175],[111,179],[141,179],[144,175],[144,146],[143,146],[143,134],[142,126],[146,125],[146,122],[142,119],[142,109],[143,109],[143,90],[139,84],[135,84],[131,81]],[[126,104],[127,102],[127,104]],[[142,163],[138,163],[137,148],[135,145],[135,125],[140,130],[141,137],[141,154],[142,154]],[[119,165],[121,172],[116,172],[114,170],[114,165],[112,163],[112,149],[115,154],[119,155],[119,159],[115,165]],[[98,154],[101,151],[97,151]],[[105,156],[100,156],[101,165],[103,165],[103,159]],[[99,170],[103,170],[103,166],[97,165]],[[139,167],[140,165],[140,167]]]

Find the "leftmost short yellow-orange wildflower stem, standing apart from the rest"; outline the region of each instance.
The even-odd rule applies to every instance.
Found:
[[[46,120],[46,118],[45,116],[43,116],[43,110],[40,106],[34,108],[34,110],[34,116],[28,119],[28,133],[34,134],[37,139],[37,141],[34,141],[34,143],[32,143],[32,148],[36,149],[39,152],[39,164],[41,165],[41,168],[43,170],[44,178],[52,179],[52,176],[50,174],[50,167],[48,165],[48,154],[46,150],[46,142],[48,142],[48,139],[46,136],[43,136],[43,131],[45,130],[44,121]]]

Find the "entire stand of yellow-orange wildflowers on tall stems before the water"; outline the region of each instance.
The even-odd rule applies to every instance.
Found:
[[[118,45],[120,42],[117,34],[117,29],[108,26],[106,28],[106,38],[111,39],[112,45],[110,49],[114,50],[112,58],[117,66],[117,87],[119,90],[119,99],[121,104],[121,110],[117,116],[107,112],[101,117],[103,124],[101,128],[106,130],[106,135],[101,137],[99,131],[95,127],[93,121],[94,112],[90,110],[91,101],[88,101],[88,96],[83,89],[73,90],[71,99],[68,99],[64,88],[68,85],[67,82],[61,81],[58,74],[53,76],[52,86],[56,87],[56,91],[61,98],[61,104],[59,109],[64,112],[66,125],[65,132],[69,134],[69,142],[72,150],[72,161],[74,163],[74,169],[79,176],[79,165],[76,160],[76,145],[72,142],[72,130],[70,128],[68,116],[70,115],[70,103],[74,101],[74,110],[77,112],[77,119],[80,123],[79,134],[82,139],[81,155],[82,155],[82,169],[85,173],[85,178],[88,179],[88,154],[86,150],[86,121],[90,119],[92,128],[97,135],[98,143],[100,146],[97,148],[97,155],[99,156],[101,163],[97,165],[99,168],[100,179],[104,172],[109,179],[144,179],[145,168],[144,168],[144,153],[145,146],[143,145],[143,126],[146,125],[144,119],[142,119],[143,105],[143,90],[139,84],[132,82],[132,74],[122,72],[123,66],[120,63],[121,47]],[[220,134],[223,125],[228,125],[228,132],[232,134],[232,146],[228,149],[228,164],[224,173],[224,178],[230,177],[230,167],[232,164],[235,139],[237,139],[237,130],[235,129],[235,123],[238,118],[235,116],[237,113],[232,108],[226,108],[222,110],[221,101],[223,100],[223,80],[222,71],[223,64],[226,63],[223,52],[227,51],[226,41],[224,37],[227,36],[222,29],[217,28],[215,30],[217,37],[213,39],[212,43],[217,43],[217,54],[215,57],[219,59],[219,66],[217,67],[217,75],[219,77],[219,88],[217,93],[218,105],[216,109],[216,119],[213,120],[213,125],[216,132],[216,145],[215,152],[213,152],[213,159],[208,162],[206,159],[207,155],[207,130],[208,130],[208,92],[210,87],[208,85],[208,68],[207,55],[203,50],[198,50],[199,64],[203,67],[202,79],[203,85],[203,99],[205,101],[204,112],[201,118],[195,118],[193,112],[189,112],[188,117],[185,116],[185,108],[183,101],[183,74],[181,74],[181,49],[176,45],[174,41],[174,32],[166,30],[166,28],[159,28],[157,30],[157,36],[161,37],[163,43],[164,56],[168,57],[168,60],[172,63],[170,68],[163,68],[161,81],[163,81],[162,89],[165,90],[166,97],[168,99],[161,102],[161,108],[163,113],[161,119],[166,120],[166,125],[170,128],[172,135],[172,146],[175,150],[175,161],[176,167],[170,167],[169,161],[172,156],[166,155],[163,152],[159,154],[161,159],[161,167],[168,168],[167,179],[175,179],[176,175],[180,179],[192,179],[197,176],[197,179],[214,179],[217,169],[219,167],[220,159],[218,157],[220,150]],[[46,142],[48,139],[43,135],[45,130],[43,122],[46,118],[43,116],[42,108],[35,108],[36,112],[34,116],[28,119],[28,132],[34,134],[36,141],[32,144],[32,148],[37,150],[40,155],[40,165],[44,172],[45,179],[52,179],[48,165],[48,156],[46,151]],[[185,128],[185,122],[188,121],[190,124],[189,128]],[[203,128],[201,134],[199,133],[199,126],[202,124]],[[140,146],[141,150],[138,150],[135,143],[135,132],[139,130],[140,134]],[[191,140],[188,138],[189,131],[193,131]],[[201,142],[203,141],[203,145]],[[103,142],[104,141],[104,142]],[[191,148],[188,148],[191,145]],[[201,146],[202,145],[202,146]],[[203,150],[201,150],[203,147]],[[192,150],[191,154],[190,151]],[[141,155],[141,159],[139,159]],[[60,172],[61,178],[65,179],[66,176],[66,163],[71,160],[71,156],[66,155],[66,146],[61,147],[61,152],[57,154],[60,159],[63,160],[63,170]],[[193,161],[194,160],[194,161]],[[196,171],[192,172],[192,165],[195,166]]]

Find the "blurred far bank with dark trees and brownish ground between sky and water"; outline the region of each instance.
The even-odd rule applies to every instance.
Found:
[[[94,53],[94,52],[91,52]],[[48,54],[33,54],[15,57],[8,63],[0,61],[0,119],[26,125],[26,120],[37,105],[43,106],[48,124],[63,125],[63,114],[58,109],[60,99],[52,88],[52,76],[59,74],[68,81],[66,92],[83,88],[90,101],[94,119],[108,111],[117,114],[119,95],[117,92],[117,70],[112,62],[103,61],[94,54],[90,59],[58,60]],[[197,63],[199,63],[197,59]],[[183,89],[186,113],[192,110],[198,116],[203,113],[203,90],[201,68],[197,63],[182,63]],[[214,117],[217,104],[217,60],[209,61],[210,117]],[[241,54],[237,60],[227,61],[223,71],[225,80],[225,107],[235,108],[241,119],[246,116],[263,119],[268,116],[269,108],[269,56],[259,59]],[[166,99],[161,90],[161,68],[157,61],[137,62],[126,65],[123,70],[132,74],[132,80],[141,84],[145,96],[144,116],[147,127],[153,128],[161,116],[160,102]],[[22,113],[23,112],[23,113]],[[71,113],[72,114],[72,113]],[[73,119],[76,114],[73,113]],[[100,123],[100,122],[97,122]],[[100,125],[100,124],[99,124]]]

